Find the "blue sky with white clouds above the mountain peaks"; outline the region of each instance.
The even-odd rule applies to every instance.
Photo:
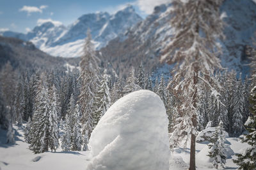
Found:
[[[68,26],[86,13],[115,13],[127,4],[145,18],[154,6],[168,1],[171,0],[0,0],[0,31],[27,33],[44,20]]]

